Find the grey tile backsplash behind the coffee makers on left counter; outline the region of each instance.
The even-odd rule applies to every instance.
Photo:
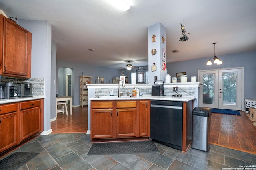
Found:
[[[0,83],[12,82],[14,83],[14,93],[17,92],[17,83],[28,82],[33,84],[32,95],[33,96],[44,96],[44,78],[13,78],[13,77],[2,77]]]

